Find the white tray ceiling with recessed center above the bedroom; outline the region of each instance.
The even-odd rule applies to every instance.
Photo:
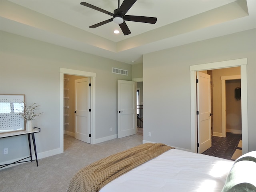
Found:
[[[89,28],[112,16],[82,1],[112,13],[118,6],[118,0],[0,0],[0,29],[136,64],[146,53],[256,28],[256,0],[137,0],[127,14],[157,22],[127,21],[131,34],[124,36],[114,22]]]

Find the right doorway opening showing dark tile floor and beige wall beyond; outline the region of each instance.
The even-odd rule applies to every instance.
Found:
[[[242,142],[240,142],[242,137],[240,67],[210,71],[214,85],[212,145],[202,154],[236,160],[242,155],[239,145]],[[240,99],[237,100],[236,97]]]

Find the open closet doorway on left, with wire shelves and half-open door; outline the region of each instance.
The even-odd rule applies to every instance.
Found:
[[[64,134],[90,143],[90,78],[64,74]]]

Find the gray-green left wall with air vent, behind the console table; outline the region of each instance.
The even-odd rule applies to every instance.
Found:
[[[117,80],[132,80],[132,65],[7,32],[0,38],[0,94],[25,94],[27,104],[36,102],[44,112],[34,120],[41,128],[35,134],[39,158],[60,151],[60,68],[96,73],[96,139],[117,134]],[[113,74],[112,67],[128,76]],[[1,139],[0,151],[0,162],[28,155],[27,136]]]

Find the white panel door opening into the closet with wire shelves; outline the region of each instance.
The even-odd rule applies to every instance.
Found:
[[[75,80],[75,138],[90,143],[90,78]]]

